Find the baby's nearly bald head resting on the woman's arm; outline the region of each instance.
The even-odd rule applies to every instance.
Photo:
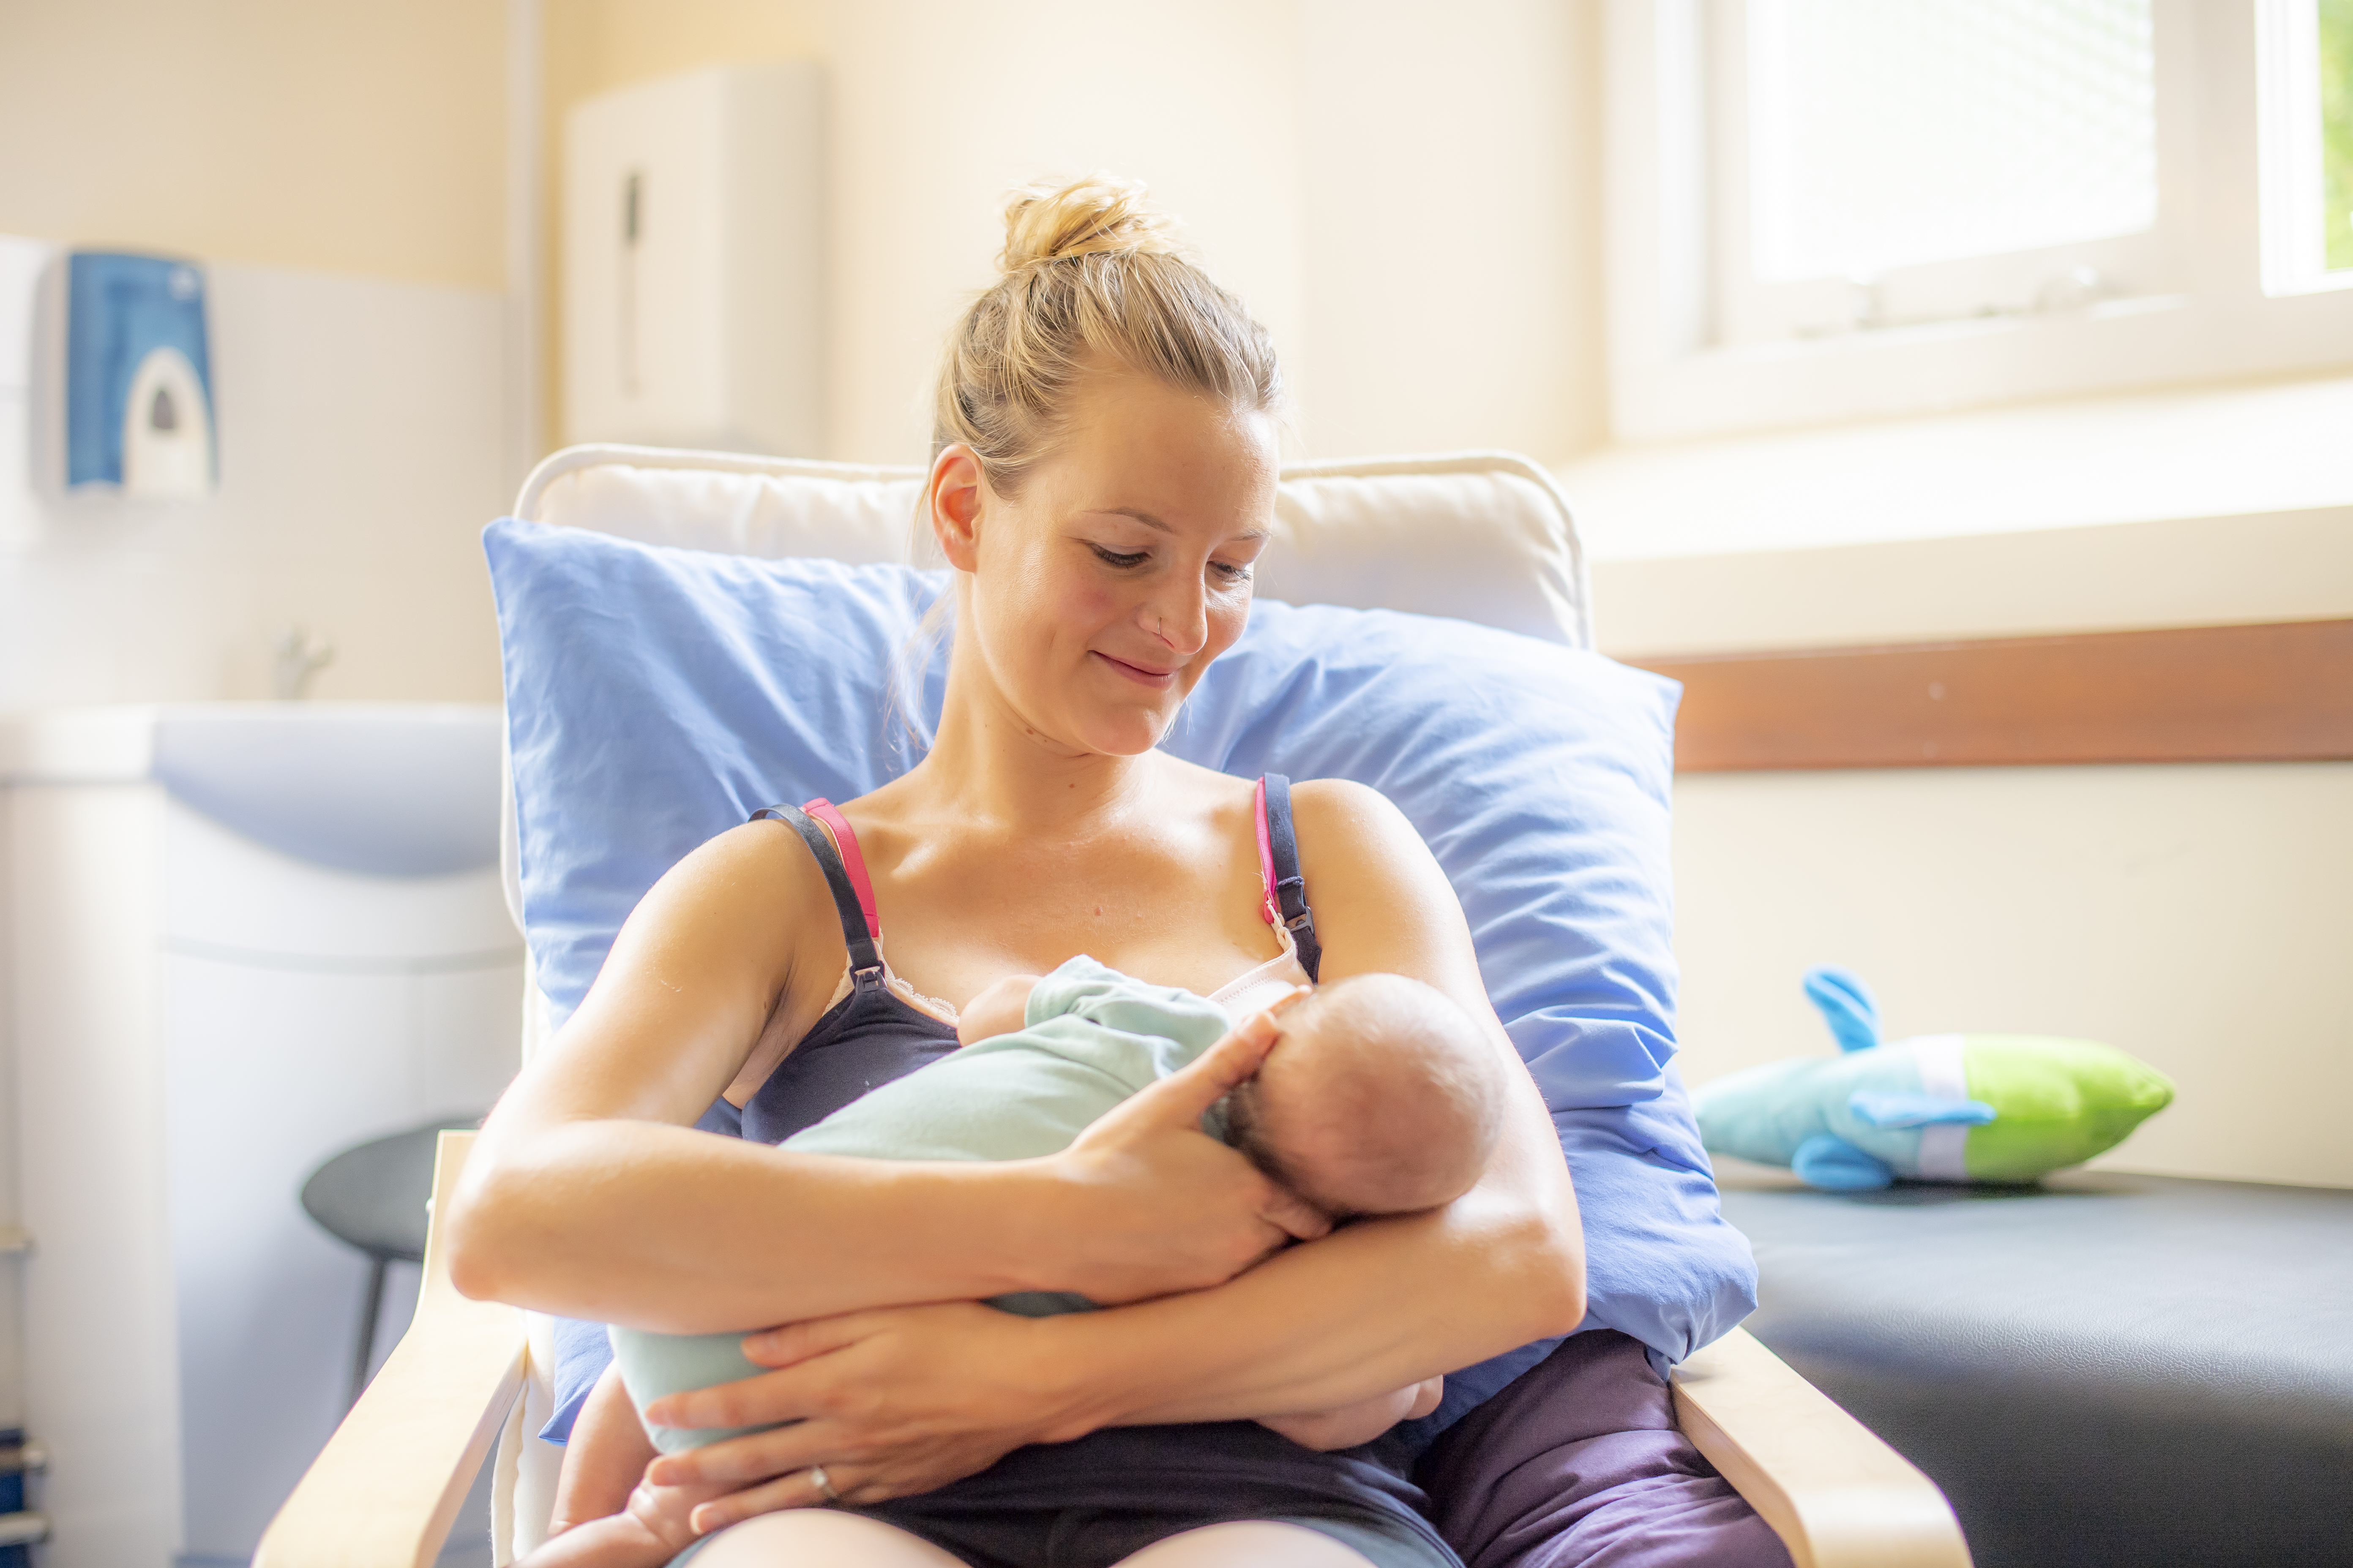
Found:
[[[1471,1190],[1504,1124],[1504,1063],[1421,980],[1351,976],[1278,1013],[1259,1074],[1233,1091],[1233,1143],[1332,1215],[1412,1213]]]

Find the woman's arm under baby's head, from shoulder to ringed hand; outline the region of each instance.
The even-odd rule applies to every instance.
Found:
[[[960,1439],[981,1427],[1059,1441],[1106,1425],[1327,1410],[1577,1328],[1584,1232],[1567,1164],[1487,1004],[1445,872],[1372,790],[1301,785],[1294,806],[1322,978],[1426,980],[1485,1020],[1511,1058],[1518,1091],[1480,1182],[1445,1208],[1360,1220],[1224,1286],[1111,1312],[925,1307],[753,1335],[746,1352],[784,1371],[659,1401],[652,1415],[802,1425],[664,1458],[656,1474],[760,1481],[821,1462],[845,1495],[868,1502],[965,1474]],[[1096,1121],[1073,1152],[1115,1135],[1139,1103],[1146,1095]],[[786,1476],[741,1493],[729,1514],[805,1502],[795,1486]]]

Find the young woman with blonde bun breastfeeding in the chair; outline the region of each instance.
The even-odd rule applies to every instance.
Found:
[[[826,827],[720,835],[647,893],[485,1126],[452,1272],[471,1295],[576,1319],[781,1324],[748,1345],[776,1371],[654,1410],[791,1422],[654,1467],[656,1481],[741,1483],[696,1514],[718,1533],[696,1568],[1426,1568],[1445,1556],[1393,1516],[1424,1502],[1395,1455],[1351,1458],[1355,1490],[1329,1509],[1254,1509],[1254,1476],[1282,1455],[1240,1436],[1231,1460],[1217,1448],[1249,1418],[1348,1406],[1584,1319],[1551,1119],[1445,875],[1377,792],[1292,795],[1318,978],[1426,980],[1508,1058],[1506,1133],[1459,1201],[1322,1234],[1202,1138],[1200,1112],[1268,1048],[1264,1016],[1054,1159],[762,1147],[953,1046],[955,1006],[1007,973],[1087,952],[1238,1016],[1308,978],[1268,917],[1254,780],[1155,750],[1249,616],[1278,470],[1268,339],[1115,181],[1021,195],[1002,266],[936,393],[927,522],[955,576],[929,755],[819,811]],[[744,1140],[689,1131],[715,1095],[744,1107]],[[976,1305],[1009,1291],[1111,1307],[1021,1319]],[[1588,1333],[1569,1347],[1433,1455],[1454,1495],[1428,1507],[1457,1521],[1475,1568],[1602,1549],[1786,1561],[1671,1434],[1638,1345]],[[1581,1396],[1577,1378],[1647,1385]],[[1548,1434],[1537,1418],[1555,1406],[1579,1413]],[[1621,1408],[1640,1432],[1584,1465],[1607,1483],[1562,1481],[1520,1507],[1485,1462],[1525,1479],[1529,1453],[1607,1436],[1593,1415]],[[1492,1453],[1466,1446],[1471,1432]]]

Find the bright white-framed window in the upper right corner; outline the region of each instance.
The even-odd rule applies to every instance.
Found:
[[[2353,0],[1614,0],[1621,440],[2353,362]]]

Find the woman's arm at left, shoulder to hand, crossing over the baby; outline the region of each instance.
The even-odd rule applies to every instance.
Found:
[[[1092,1168],[838,1159],[692,1131],[807,1032],[840,966],[831,893],[788,827],[736,827],[680,860],[485,1124],[449,1213],[456,1286],[708,1333],[1005,1291],[1134,1300],[1228,1279],[1299,1229],[1297,1199],[1176,1126]],[[1245,1056],[1198,1065],[1240,1081]]]

